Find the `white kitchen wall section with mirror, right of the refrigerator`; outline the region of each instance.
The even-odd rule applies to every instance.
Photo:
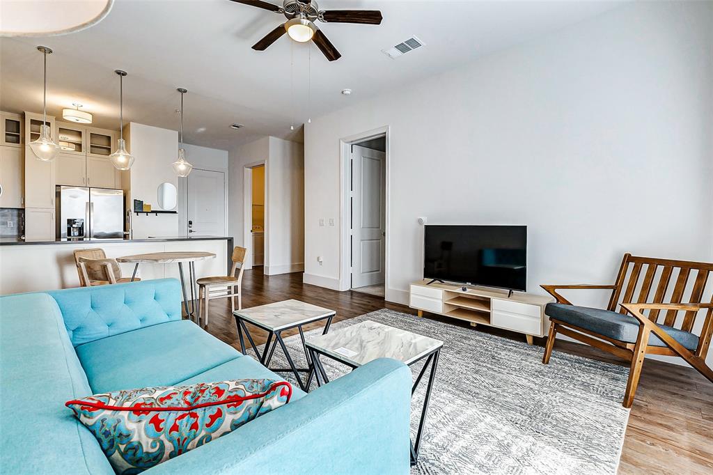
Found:
[[[130,209],[135,199],[158,208],[158,185],[168,182],[178,188],[178,177],[171,167],[178,159],[178,132],[135,122],[129,123],[127,128],[127,147],[135,157],[130,170]],[[178,214],[134,214],[132,220],[135,239],[182,234]]]

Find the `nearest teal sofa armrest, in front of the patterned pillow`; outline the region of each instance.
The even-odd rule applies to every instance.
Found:
[[[411,381],[376,359],[149,472],[407,475]]]

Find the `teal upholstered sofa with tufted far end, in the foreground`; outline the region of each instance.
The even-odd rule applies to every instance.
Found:
[[[0,297],[0,471],[113,474],[70,399],[226,379],[282,380],[181,320],[177,280]],[[151,474],[406,474],[411,372],[378,359]]]

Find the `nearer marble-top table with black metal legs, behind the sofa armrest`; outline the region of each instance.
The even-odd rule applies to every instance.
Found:
[[[424,335],[418,333],[366,320],[329,334],[310,338],[307,340],[306,347],[312,360],[311,369],[314,371],[317,385],[319,386],[322,385],[322,381],[329,382],[327,372],[324,371],[322,362],[319,361],[320,355],[346,364],[352,369],[356,369],[377,358],[398,359],[409,366],[427,358],[424,367],[416,377],[414,386],[411,388],[411,394],[413,395],[430,364],[429,384],[426,387],[424,406],[421,409],[419,430],[416,432],[416,441],[411,441],[411,465],[415,465],[419,459],[421,434],[423,434],[424,425],[426,424],[426,412],[429,408],[431,389],[433,389],[436,366],[438,365],[438,357],[441,354],[443,342],[439,339],[424,337]],[[312,381],[312,374],[310,374],[308,381]]]

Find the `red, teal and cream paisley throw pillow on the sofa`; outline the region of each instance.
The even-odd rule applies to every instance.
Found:
[[[129,475],[229,434],[290,397],[288,382],[239,379],[94,394],[66,406],[116,473]]]

